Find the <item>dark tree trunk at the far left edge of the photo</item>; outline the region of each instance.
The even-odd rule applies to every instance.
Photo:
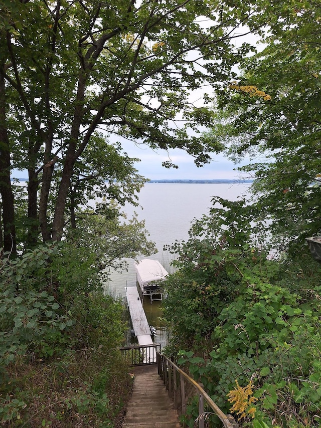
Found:
[[[0,67],[4,69],[4,64]],[[6,121],[5,79],[0,73],[0,192],[2,197],[4,251],[17,255],[14,194],[10,180],[10,146]]]

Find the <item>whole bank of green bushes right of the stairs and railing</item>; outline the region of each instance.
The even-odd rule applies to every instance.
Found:
[[[255,420],[317,426],[320,268],[309,255],[270,260],[264,222],[251,233],[256,207],[220,202],[228,209],[212,208],[212,216],[194,222],[187,243],[172,247],[180,268],[165,285],[172,352],[224,412],[235,381],[240,388],[251,381]],[[245,422],[252,426],[248,415]]]

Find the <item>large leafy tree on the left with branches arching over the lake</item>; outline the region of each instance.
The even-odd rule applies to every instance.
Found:
[[[62,238],[73,176],[98,128],[153,148],[179,147],[197,165],[220,149],[212,139],[195,136],[211,113],[188,97],[229,79],[231,66],[247,50],[230,42],[250,15],[248,4],[192,0],[3,2],[0,75],[10,141],[1,152],[7,175],[2,172],[0,189],[10,168],[28,169],[31,243],[38,228],[43,241]],[[177,113],[186,120],[180,127]],[[3,203],[5,196],[2,190]],[[10,198],[8,203],[12,209]]]

